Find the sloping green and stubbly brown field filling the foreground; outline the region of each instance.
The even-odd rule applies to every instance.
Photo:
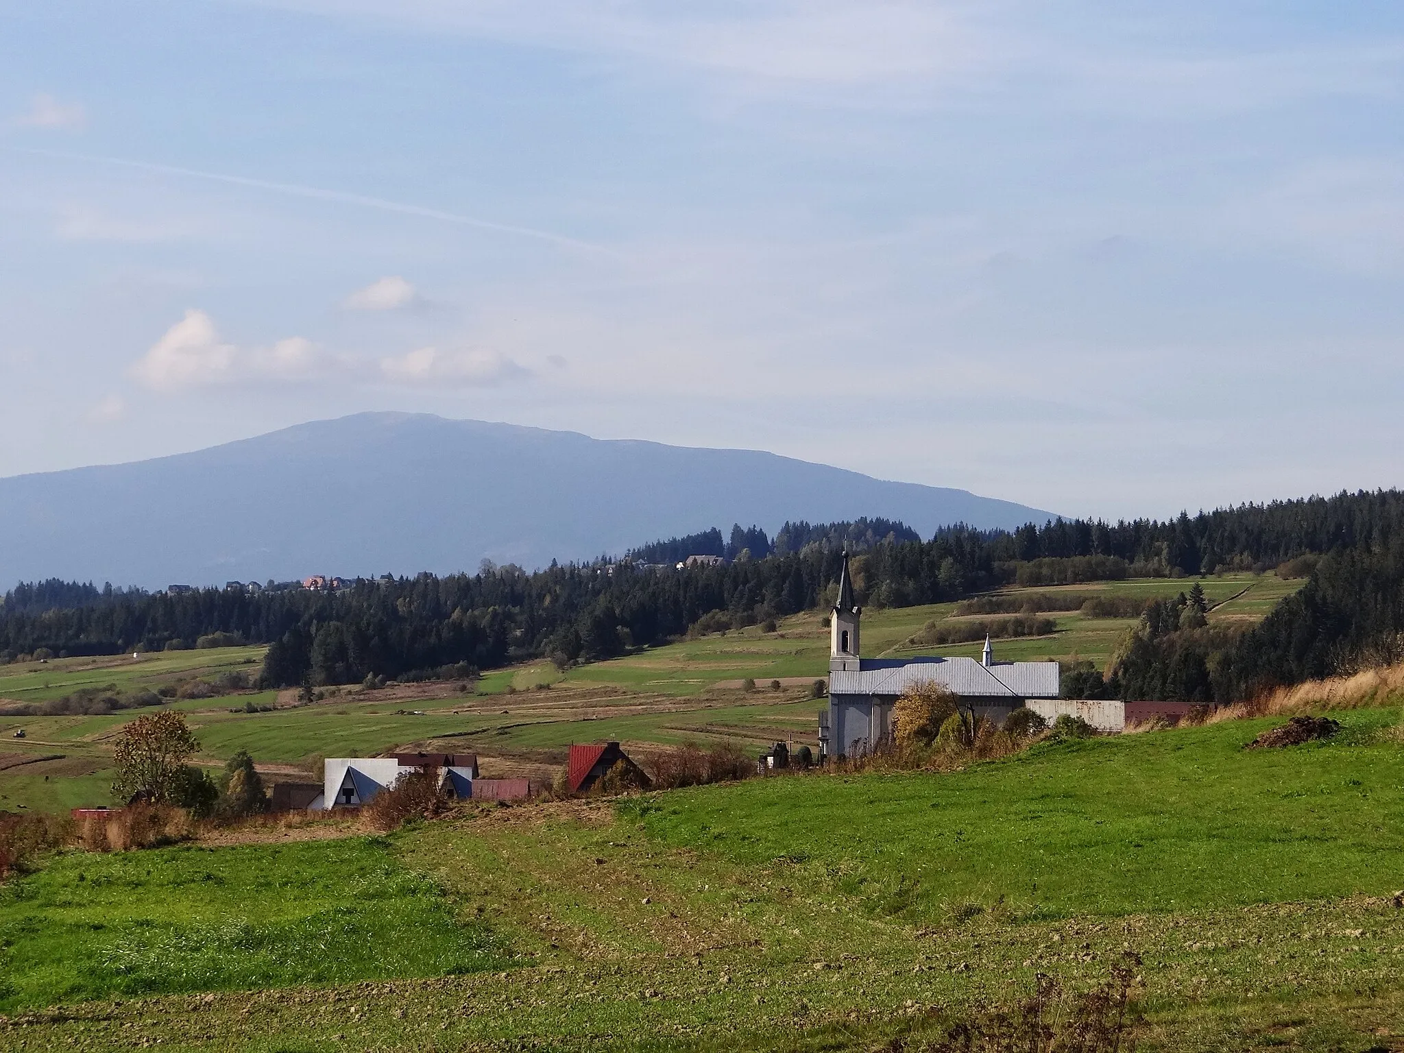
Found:
[[[1132,948],[1137,1049],[1396,1049],[1401,713],[1338,716],[1331,743],[1283,751],[1241,748],[1271,720],[1224,722],[277,852],[65,856],[4,892],[18,1015],[0,1047],[876,1049],[920,1036],[932,1007],[1008,1002],[1036,972],[1091,984]],[[91,887],[100,875],[111,883]],[[466,974],[428,952],[379,973],[351,953],[350,972],[285,987],[303,966],[260,958],[260,936],[244,972],[211,963],[208,946],[244,946],[212,932],[285,917],[302,932],[324,897],[393,907],[406,889],[406,943],[462,948]],[[153,935],[167,924],[178,932]],[[303,962],[300,936],[289,946]],[[170,994],[38,1008],[129,990],[105,965],[128,953],[139,990]],[[205,988],[225,993],[190,995]]]

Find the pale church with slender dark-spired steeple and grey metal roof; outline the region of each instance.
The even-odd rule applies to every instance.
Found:
[[[1059,696],[1056,661],[995,661],[990,639],[974,658],[859,657],[858,619],[848,553],[830,618],[828,713],[820,716],[820,755],[862,757],[892,740],[892,706],[908,687],[935,682],[960,698],[960,708],[1002,723],[1031,698]],[[826,719],[827,717],[827,719]]]

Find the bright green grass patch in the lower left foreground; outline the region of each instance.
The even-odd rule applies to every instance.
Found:
[[[0,1011],[504,965],[383,838],[70,854],[0,886]]]

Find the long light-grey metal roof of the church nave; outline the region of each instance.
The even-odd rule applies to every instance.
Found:
[[[1057,698],[1056,661],[981,665],[974,658],[863,658],[858,670],[828,674],[831,695],[900,695],[917,684],[939,684],[965,698]]]

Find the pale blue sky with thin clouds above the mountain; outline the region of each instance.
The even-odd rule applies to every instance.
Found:
[[[1404,484],[1401,323],[1397,0],[0,0],[0,476],[411,410],[1164,517]]]

